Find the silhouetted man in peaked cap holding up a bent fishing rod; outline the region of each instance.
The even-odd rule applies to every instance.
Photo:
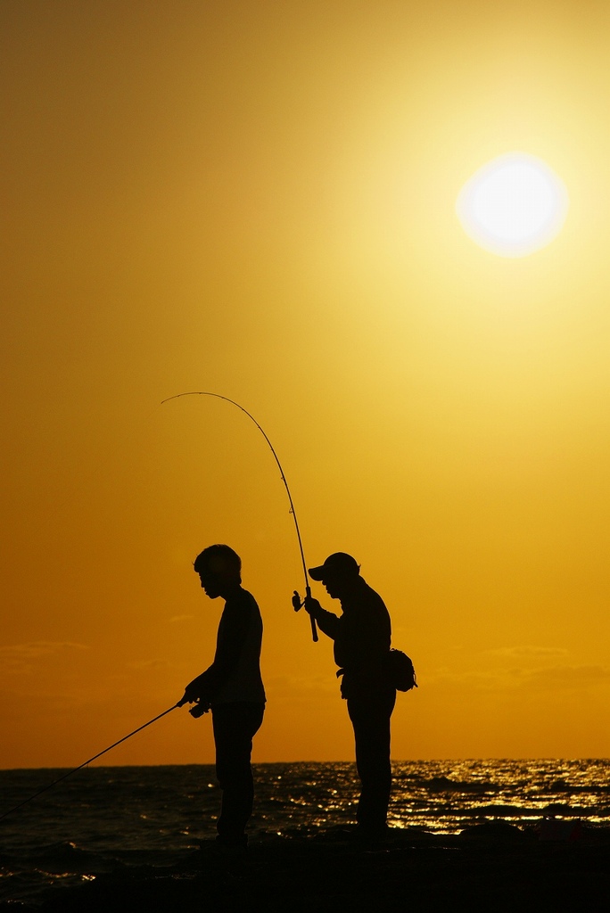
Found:
[[[360,576],[360,565],[351,555],[336,551],[320,567],[310,568],[309,574],[341,603],[341,615],[327,612],[311,596],[304,604],[321,631],[334,641],[334,659],[340,666],[337,676],[342,676],[341,693],[352,720],[362,782],[359,829],[366,836],[383,836],[392,788],[390,717],[396,699],[388,666],[390,615],[381,596]]]

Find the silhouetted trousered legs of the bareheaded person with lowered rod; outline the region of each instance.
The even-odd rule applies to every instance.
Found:
[[[246,825],[252,814],[254,782],[252,739],[260,728],[264,704],[235,702],[212,708],[216,742],[216,778],[223,791],[216,830],[220,843],[246,846]]]

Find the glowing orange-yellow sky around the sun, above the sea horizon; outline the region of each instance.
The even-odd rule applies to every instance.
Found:
[[[76,766],[182,696],[216,541],[265,621],[255,760],[352,758],[273,457],[229,404],[161,405],[185,390],[255,415],[309,563],[350,551],[383,595],[420,681],[395,759],[607,755],[608,5],[0,17],[0,766]],[[522,259],[454,209],[512,150],[571,201]],[[212,760],[185,709],[104,759]]]

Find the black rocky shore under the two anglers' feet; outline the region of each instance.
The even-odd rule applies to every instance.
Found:
[[[541,840],[533,829],[498,823],[458,836],[397,831],[378,844],[361,843],[346,829],[315,837],[269,835],[253,841],[241,855],[221,854],[209,842],[173,866],[135,867],[79,887],[50,888],[36,909],[610,910],[610,832],[588,828],[554,836],[559,839]]]

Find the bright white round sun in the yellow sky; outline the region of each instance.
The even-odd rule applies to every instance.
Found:
[[[508,152],[464,184],[456,211],[480,247],[500,257],[526,257],[561,231],[568,205],[565,184],[542,159]]]

